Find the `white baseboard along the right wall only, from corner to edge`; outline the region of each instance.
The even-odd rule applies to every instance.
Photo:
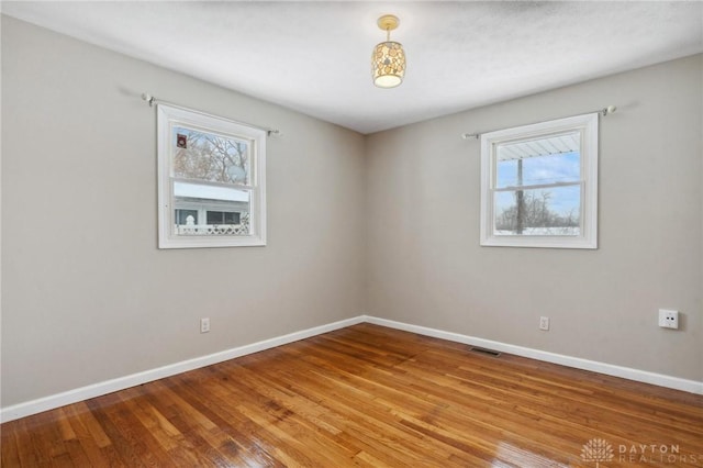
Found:
[[[580,357],[566,356],[562,354],[549,353],[539,349],[526,348],[523,346],[509,345],[491,339],[477,338],[475,336],[461,335],[458,333],[445,332],[443,330],[428,328],[426,326],[411,325],[392,320],[378,319],[375,316],[364,316],[364,322],[373,323],[390,328],[403,330],[405,332],[417,333],[419,335],[432,336],[450,342],[464,343],[471,346],[479,346],[488,349],[495,349],[501,353],[514,354],[529,357],[532,359],[544,360],[546,363],[560,364],[577,369],[591,370],[593,372],[605,374],[606,376],[621,377],[623,379],[638,382],[651,383],[674,390],[683,390],[690,393],[703,394],[703,382],[687,380],[679,377],[666,376],[663,374],[649,372],[647,370],[633,369],[629,367],[615,366],[595,360],[582,359]]]

